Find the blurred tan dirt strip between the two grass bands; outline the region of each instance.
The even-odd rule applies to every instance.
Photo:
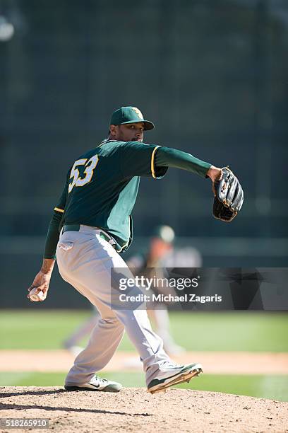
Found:
[[[0,371],[68,371],[74,356],[66,350],[1,350]],[[270,352],[185,352],[179,364],[200,362],[206,374],[288,374],[288,354]],[[135,352],[118,351],[104,371],[142,371]]]

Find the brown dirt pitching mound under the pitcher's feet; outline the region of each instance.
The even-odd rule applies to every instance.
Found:
[[[288,432],[288,403],[205,391],[174,388],[151,396],[145,388],[97,393],[6,386],[0,399],[2,422],[46,418],[54,432]]]

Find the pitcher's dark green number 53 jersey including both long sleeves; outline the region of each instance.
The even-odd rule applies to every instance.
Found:
[[[211,164],[155,144],[110,139],[80,156],[69,169],[54,208],[44,258],[55,257],[59,229],[64,224],[99,227],[113,236],[119,253],[126,250],[133,238],[131,212],[140,176],[162,178],[169,166],[205,177]]]

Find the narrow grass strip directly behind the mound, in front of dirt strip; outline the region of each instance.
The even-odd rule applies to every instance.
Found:
[[[61,373],[0,373],[1,386],[63,386],[65,374]],[[144,374],[102,374],[107,379],[119,381],[126,387],[145,386]],[[288,376],[246,376],[203,374],[178,388],[216,391],[242,396],[288,401]]]

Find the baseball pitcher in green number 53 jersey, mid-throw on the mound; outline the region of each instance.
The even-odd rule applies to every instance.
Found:
[[[169,359],[145,310],[111,308],[111,270],[127,267],[121,253],[133,238],[131,212],[140,176],[160,179],[169,167],[174,167],[210,178],[217,202],[215,217],[224,221],[230,221],[239,212],[243,191],[228,168],[223,175],[221,168],[184,151],[144,144],[143,133],[152,128],[152,122],[145,120],[138,108],[116,110],[109,137],[69,168],[64,190],[54,207],[43,264],[28,291],[33,290],[36,295],[41,292],[40,301],[47,296],[57,260],[61,277],[100,312],[88,345],[66,376],[67,391],[120,391],[120,383],[100,379],[95,372],[112,358],[124,330],[143,362],[150,393],[189,381],[202,371],[201,364],[178,365]]]

